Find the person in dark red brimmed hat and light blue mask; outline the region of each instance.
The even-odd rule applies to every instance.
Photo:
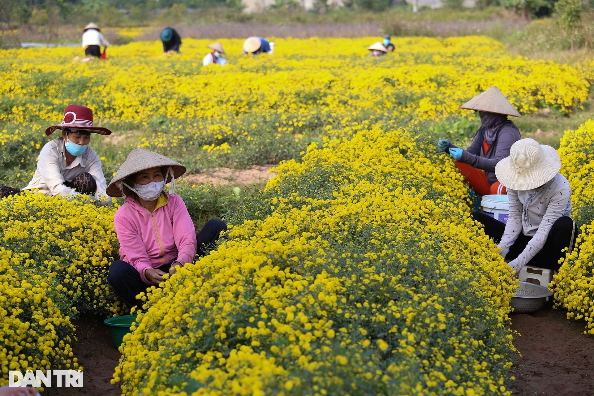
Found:
[[[61,137],[43,146],[33,179],[23,190],[38,189],[49,197],[77,194],[92,195],[95,199],[106,197],[107,186],[101,161],[89,147],[89,142],[91,134],[110,135],[112,132],[93,126],[93,110],[76,104],[66,107],[62,122],[50,126],[45,134],[49,136],[56,129],[62,131]],[[0,186],[0,197],[16,192],[17,189]]]

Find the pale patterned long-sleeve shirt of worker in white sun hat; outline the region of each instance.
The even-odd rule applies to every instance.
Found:
[[[509,265],[520,271],[545,246],[551,227],[558,218],[571,217],[571,188],[560,173],[544,186],[526,191],[507,189],[510,216],[499,247],[506,256],[520,232],[532,236],[524,251]]]

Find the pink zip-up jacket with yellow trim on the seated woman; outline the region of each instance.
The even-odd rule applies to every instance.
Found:
[[[151,214],[134,197],[126,197],[113,218],[119,239],[120,259],[128,262],[149,284],[144,271],[173,261],[194,261],[196,232],[184,200],[161,193]]]

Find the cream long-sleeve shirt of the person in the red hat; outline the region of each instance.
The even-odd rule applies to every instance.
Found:
[[[77,195],[79,193],[65,185],[64,182],[70,182],[81,173],[87,172],[93,176],[97,183],[95,198],[106,197],[107,183],[97,153],[92,148],[87,147],[83,154],[77,156],[71,164],[67,165],[64,144],[64,138],[59,137],[43,146],[41,153],[39,153],[37,169],[33,179],[23,189],[33,190],[38,188],[39,192],[49,197],[53,195]],[[111,199],[108,199],[108,201],[111,201]]]

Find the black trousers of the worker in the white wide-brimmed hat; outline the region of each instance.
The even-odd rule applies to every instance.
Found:
[[[470,215],[474,220],[483,225],[485,234],[491,237],[495,243],[501,241],[501,237],[503,237],[505,231],[505,223],[501,223],[501,221],[495,220],[495,218],[482,212],[473,212]],[[577,235],[579,235],[577,226],[570,217],[563,216],[558,218],[551,227],[549,235],[546,237],[545,245],[542,247],[541,251],[537,252],[528,262],[528,265],[559,271],[561,264],[559,264],[558,261],[561,257],[565,257],[565,254],[567,254],[563,249],[569,248],[569,251],[571,252],[576,243]],[[516,242],[510,246],[510,251],[505,256],[505,259],[513,260],[517,258],[517,256],[522,254],[531,239],[532,236],[526,236],[520,232]]]

